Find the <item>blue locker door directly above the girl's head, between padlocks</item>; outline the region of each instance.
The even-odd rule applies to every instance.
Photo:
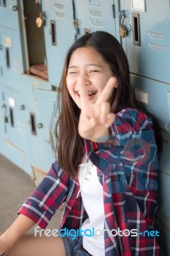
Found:
[[[116,36],[115,5],[113,0],[75,0],[75,18],[79,35],[107,31]]]

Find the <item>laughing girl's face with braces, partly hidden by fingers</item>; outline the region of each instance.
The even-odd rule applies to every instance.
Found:
[[[81,86],[86,89],[89,100],[95,102],[112,76],[111,67],[100,53],[90,47],[81,47],[70,58],[66,85],[73,101],[81,109]]]

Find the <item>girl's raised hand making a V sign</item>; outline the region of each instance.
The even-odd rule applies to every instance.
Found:
[[[116,77],[111,77],[98,95],[95,103],[91,103],[85,86],[81,86],[81,115],[78,131],[82,138],[104,142],[109,138],[108,127],[114,122],[115,114],[110,113],[109,99],[114,88],[118,86]]]

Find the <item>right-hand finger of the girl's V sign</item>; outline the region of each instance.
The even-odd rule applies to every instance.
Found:
[[[104,89],[102,90],[102,93],[98,97],[96,104],[100,105],[102,102],[105,102],[109,100],[109,97],[111,97],[112,91],[114,88],[118,86],[116,77],[111,77],[107,81],[107,84],[105,84]]]

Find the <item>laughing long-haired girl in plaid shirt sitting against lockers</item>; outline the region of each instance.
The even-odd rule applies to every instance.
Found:
[[[70,47],[58,102],[58,161],[0,237],[0,255],[162,255],[155,131],[114,36],[97,31]],[[35,223],[45,228],[63,202],[57,236],[24,236]]]

